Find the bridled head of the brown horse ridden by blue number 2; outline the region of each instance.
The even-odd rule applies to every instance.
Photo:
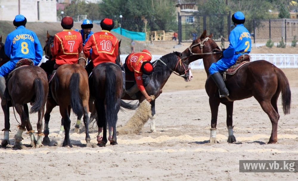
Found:
[[[206,35],[207,31],[204,30],[202,35],[195,39],[193,43],[182,52],[181,60],[189,65],[191,62],[210,55],[214,50],[220,50],[218,45],[212,40],[213,33],[209,36]]]

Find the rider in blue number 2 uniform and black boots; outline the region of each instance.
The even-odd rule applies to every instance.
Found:
[[[251,35],[243,26],[245,22],[244,14],[240,11],[236,12],[232,16],[232,21],[234,22],[235,28],[231,31],[229,36],[229,47],[223,51],[223,58],[212,63],[209,68],[210,76],[218,86],[221,98],[229,96],[229,91],[219,72],[225,71],[230,66],[234,65],[240,55],[249,54],[252,45]]]

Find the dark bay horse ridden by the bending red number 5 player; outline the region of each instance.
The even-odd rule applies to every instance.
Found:
[[[155,99],[150,102],[151,111],[152,111],[152,119],[150,124],[151,132],[155,132],[155,100],[162,93],[162,88],[167,80],[170,78],[172,73],[175,73],[184,78],[185,81],[191,81],[193,75],[190,71],[190,68],[187,64],[181,61],[181,53],[173,52],[167,55],[162,56],[160,59],[152,62],[154,65],[154,71],[151,75],[149,75],[149,83],[145,87],[148,95],[154,95]],[[126,60],[125,60],[126,61]],[[128,80],[128,72],[126,72],[126,80]],[[126,81],[126,89],[131,88],[134,85],[134,82]],[[125,94],[122,98],[123,100],[146,100],[145,96],[139,91],[136,93],[137,98],[132,99],[129,95]]]

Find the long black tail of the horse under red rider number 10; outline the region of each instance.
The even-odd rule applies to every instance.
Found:
[[[111,66],[105,67],[105,118],[108,123],[109,131],[116,126],[118,112],[116,111],[116,75]]]

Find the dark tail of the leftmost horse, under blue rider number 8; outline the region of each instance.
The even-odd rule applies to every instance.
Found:
[[[43,106],[44,100],[44,84],[40,78],[35,78],[33,81],[35,89],[35,101],[30,109],[30,114],[38,112]]]

